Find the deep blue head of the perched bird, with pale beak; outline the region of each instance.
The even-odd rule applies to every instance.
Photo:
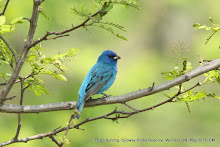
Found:
[[[99,59],[97,62],[110,64],[110,65],[116,65],[118,59],[121,59],[121,57],[119,57],[115,52],[111,50],[106,50],[99,56]]]

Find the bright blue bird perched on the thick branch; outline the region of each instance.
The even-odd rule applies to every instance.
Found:
[[[92,95],[103,94],[115,81],[118,59],[121,59],[121,57],[111,50],[106,50],[99,56],[97,63],[90,69],[79,89],[79,97],[75,108],[75,111],[78,110],[79,112],[76,115],[78,119],[80,118],[85,101]]]

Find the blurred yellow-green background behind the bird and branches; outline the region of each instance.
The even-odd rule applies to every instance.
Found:
[[[77,25],[83,20],[71,13],[71,8],[80,6],[90,7],[89,0],[46,0],[42,4],[44,12],[51,18],[39,17],[39,23],[35,39],[40,38],[46,31],[62,31],[72,24]],[[1,1],[3,5],[5,1]],[[91,2],[92,3],[92,2]],[[128,41],[116,38],[111,33],[100,28],[89,27],[89,30],[79,29],[71,32],[70,37],[49,40],[42,43],[43,51],[47,56],[53,56],[69,48],[78,48],[76,58],[66,62],[69,68],[66,72],[67,82],[56,81],[51,77],[43,77],[45,87],[51,95],[38,97],[33,91],[26,91],[24,105],[37,105],[56,103],[63,101],[76,101],[78,89],[89,71],[96,63],[98,56],[107,49],[115,51],[122,57],[118,62],[118,75],[113,86],[106,92],[114,96],[127,94],[138,89],[150,87],[153,82],[156,85],[166,82],[161,72],[171,71],[176,65],[175,55],[171,52],[172,42],[185,41],[189,45],[189,61],[194,68],[199,66],[200,59],[220,58],[219,37],[217,33],[210,42],[205,45],[204,38],[209,32],[195,31],[192,25],[201,23],[211,25],[208,18],[220,23],[220,1],[216,0],[140,0],[141,10],[116,6],[104,17],[104,21],[115,22],[125,26],[127,32],[122,32]],[[6,11],[7,22],[15,17],[31,17],[32,1],[16,0],[9,3]],[[29,24],[24,22],[16,26],[14,32],[6,36],[18,53],[22,51],[24,40],[27,36]],[[120,32],[120,31],[118,31]],[[6,70],[0,67],[0,70]],[[22,73],[30,73],[23,68]],[[204,77],[196,78],[184,86],[190,87]],[[2,88],[2,87],[1,87]],[[176,89],[171,89],[174,92]],[[220,95],[217,83],[198,87],[195,91],[216,92]],[[171,94],[171,91],[165,91]],[[19,95],[19,84],[15,85],[10,95]],[[100,97],[100,96],[95,96]],[[144,97],[128,102],[135,108],[146,108],[165,100],[162,93]],[[7,103],[18,104],[19,99]],[[205,98],[190,103],[192,113],[188,113],[185,103],[171,103],[163,105],[153,111],[147,111],[128,119],[118,120],[118,123],[110,120],[98,120],[87,123],[82,130],[71,130],[68,134],[70,144],[66,146],[179,146],[179,147],[206,147],[219,146],[220,144],[220,101],[214,98]],[[118,110],[129,110],[127,107],[115,104],[85,108],[80,122],[87,117],[96,117],[106,114],[118,107]],[[22,128],[19,138],[32,136],[39,133],[52,131],[59,126],[65,126],[72,111],[57,111],[39,114],[22,114]],[[17,115],[0,113],[0,142],[14,137],[17,129]],[[55,136],[57,139],[63,133]],[[214,142],[139,142],[123,143],[121,139],[215,139]],[[94,139],[119,139],[121,142],[95,142]],[[39,147],[55,146],[49,138],[17,143],[12,147]]]

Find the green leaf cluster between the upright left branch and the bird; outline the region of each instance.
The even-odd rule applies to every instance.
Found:
[[[67,52],[59,53],[53,57],[46,57],[43,54],[43,48],[40,45],[31,48],[30,51],[31,53],[27,56],[25,62],[31,67],[32,77],[26,80],[24,84],[26,86],[30,85],[29,89],[34,90],[37,96],[41,96],[41,93],[49,95],[49,92],[42,85],[44,81],[36,78],[36,75],[49,75],[56,80],[67,81],[65,71],[68,70],[68,68],[63,62],[73,60],[77,49],[71,48]]]

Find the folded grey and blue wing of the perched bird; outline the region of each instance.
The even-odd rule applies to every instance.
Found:
[[[84,101],[86,101],[88,98],[90,98],[91,95],[95,94],[96,92],[98,92],[103,85],[106,84],[106,82],[108,82],[108,80],[112,77],[112,73],[105,75],[105,76],[98,76],[98,75],[94,75],[90,81],[89,84],[86,87],[85,92],[87,93],[85,96]]]

